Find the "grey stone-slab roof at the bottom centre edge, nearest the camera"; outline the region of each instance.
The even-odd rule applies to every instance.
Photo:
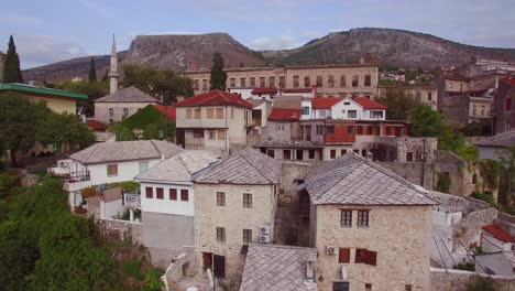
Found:
[[[316,260],[314,248],[250,245],[240,291],[317,290],[305,281],[306,262]]]

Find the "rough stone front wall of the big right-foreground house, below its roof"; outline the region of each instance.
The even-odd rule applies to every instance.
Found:
[[[350,290],[363,290],[372,283],[377,290],[429,289],[430,206],[348,206],[353,226],[340,227],[340,209],[344,205],[318,205],[316,248],[318,251],[318,290],[331,290],[333,281],[342,281],[347,268]],[[370,209],[369,228],[358,228],[358,208]],[[350,263],[338,263],[338,255],[326,255],[326,247],[350,248]],[[377,251],[377,266],[354,263],[355,249]],[[338,250],[337,250],[338,251]],[[337,252],[338,254],[338,252]]]

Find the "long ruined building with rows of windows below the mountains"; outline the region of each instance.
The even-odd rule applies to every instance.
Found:
[[[311,88],[317,96],[368,96],[377,95],[379,67],[371,64],[243,67],[226,68],[227,87],[261,88]],[[195,94],[209,90],[209,71],[187,71],[183,76],[194,80]]]

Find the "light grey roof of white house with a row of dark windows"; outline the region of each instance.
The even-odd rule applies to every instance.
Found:
[[[186,182],[191,176],[218,161],[210,151],[182,151],[135,176],[141,181]]]

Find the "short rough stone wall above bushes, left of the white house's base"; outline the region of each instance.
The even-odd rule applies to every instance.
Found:
[[[130,239],[133,245],[142,245],[142,227],[140,223],[131,223],[124,220],[100,219],[97,222],[100,229],[100,235],[110,240]]]

